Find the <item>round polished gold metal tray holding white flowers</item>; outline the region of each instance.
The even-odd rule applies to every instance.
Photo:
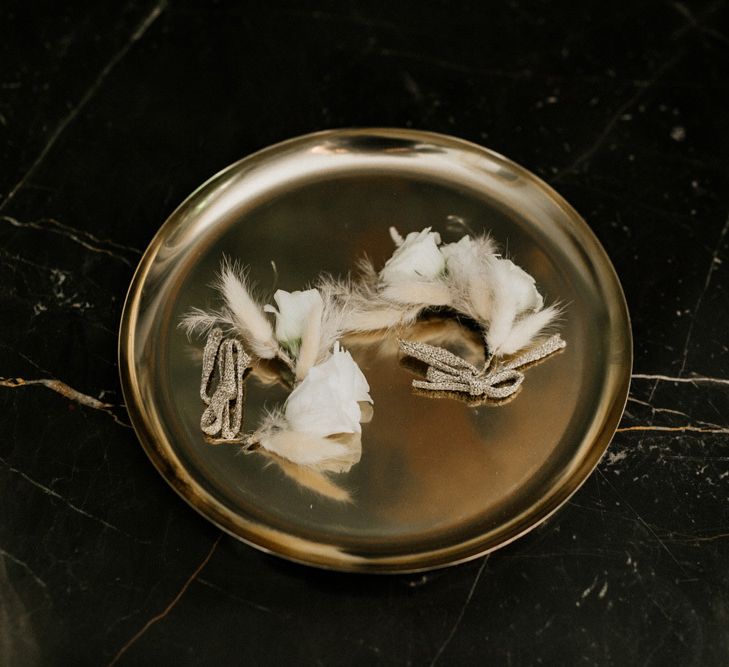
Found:
[[[223,254],[266,293],[381,266],[388,227],[432,226],[444,241],[488,230],[565,305],[568,346],[527,372],[499,407],[419,395],[387,346],[352,353],[375,401],[362,458],[318,473],[199,430],[202,342],[178,328],[212,305]],[[460,228],[456,235],[454,226]],[[275,283],[275,286],[274,286]],[[264,551],[324,568],[412,572],[475,558],[546,519],[605,451],[627,397],[625,299],[580,216],[536,176],[480,146],[399,129],[299,137],[237,162],[198,188],[147,248],[119,334],[126,405],[147,454],[203,516]],[[246,430],[282,389],[248,382]]]

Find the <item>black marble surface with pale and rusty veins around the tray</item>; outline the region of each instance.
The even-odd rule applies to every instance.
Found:
[[[721,0],[3,3],[0,664],[726,664],[728,18]],[[633,317],[630,401],[585,486],[426,575],[221,536],[120,405],[122,301],[171,210],[256,149],[366,125],[540,174]]]

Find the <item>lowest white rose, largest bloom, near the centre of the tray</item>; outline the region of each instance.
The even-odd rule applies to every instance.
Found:
[[[334,344],[324,363],[314,366],[291,392],[284,414],[291,430],[322,437],[361,433],[359,402],[372,403],[370,387],[349,352]]]

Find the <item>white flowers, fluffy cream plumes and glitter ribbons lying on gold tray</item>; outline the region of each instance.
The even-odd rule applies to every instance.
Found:
[[[189,335],[207,335],[200,386],[206,436],[342,472],[359,461],[362,424],[374,403],[344,347],[348,336],[394,332],[401,353],[424,365],[424,377],[413,381],[418,391],[493,401],[513,397],[524,367],[565,347],[559,334],[544,335],[560,308],[545,306],[534,278],[502,257],[488,236],[444,244],[431,228],[405,237],[391,228],[390,235],[395,250],[379,271],[363,259],[354,277],[322,276],[310,289],[276,291],[275,305],[256,298],[243,267],[223,261],[221,306],[194,309],[181,323]],[[481,367],[407,339],[409,328],[434,312],[478,329]],[[244,432],[249,374],[290,393]]]

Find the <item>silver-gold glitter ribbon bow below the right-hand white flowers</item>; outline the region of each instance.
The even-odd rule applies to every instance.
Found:
[[[504,364],[492,367],[493,358],[479,370],[465,359],[427,343],[400,340],[400,349],[410,357],[426,364],[425,380],[413,380],[413,387],[430,391],[454,391],[495,400],[509,398],[524,382],[520,368],[541,361],[567,343],[555,334],[541,345]]]

